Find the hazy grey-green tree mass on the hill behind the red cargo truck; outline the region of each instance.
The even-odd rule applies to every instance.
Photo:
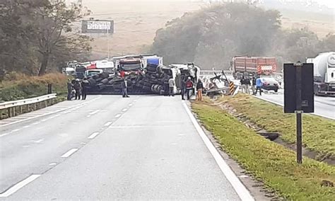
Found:
[[[335,35],[320,40],[307,28],[283,30],[281,13],[248,4],[222,4],[167,22],[156,32],[151,52],[172,62],[195,62],[204,69],[228,69],[236,55],[305,62],[335,50]]]

